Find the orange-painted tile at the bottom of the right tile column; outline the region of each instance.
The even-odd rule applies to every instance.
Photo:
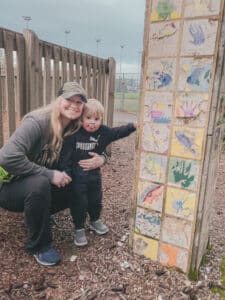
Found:
[[[188,271],[188,251],[184,249],[161,244],[159,249],[159,261],[162,265],[177,267],[183,272]]]

